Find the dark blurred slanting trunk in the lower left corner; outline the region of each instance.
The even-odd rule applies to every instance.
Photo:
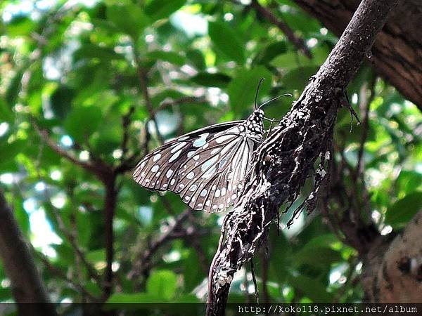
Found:
[[[12,294],[18,305],[19,315],[56,315],[34,265],[34,258],[1,190],[0,257],[4,263],[6,275],[11,280]]]

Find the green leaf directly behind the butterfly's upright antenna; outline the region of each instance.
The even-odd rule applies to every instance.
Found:
[[[252,110],[258,83],[261,78],[260,97],[269,92],[271,88],[271,72],[264,66],[252,68],[252,70],[239,71],[227,87],[230,104],[235,112],[241,112],[248,108]]]

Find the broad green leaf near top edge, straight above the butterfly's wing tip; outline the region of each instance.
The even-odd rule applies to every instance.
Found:
[[[151,22],[141,6],[131,2],[109,6],[106,16],[121,32],[129,34],[134,40],[138,39],[143,29]]]

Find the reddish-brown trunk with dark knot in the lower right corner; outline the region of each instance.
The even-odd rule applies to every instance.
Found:
[[[422,211],[392,241],[379,237],[366,254],[362,284],[366,300],[422,302]]]

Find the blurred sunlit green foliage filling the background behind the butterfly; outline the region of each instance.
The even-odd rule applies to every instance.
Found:
[[[25,237],[51,265],[35,256],[53,301],[89,301],[90,296],[101,296],[103,285],[75,256],[65,232],[71,233],[88,263],[102,275],[106,267],[105,191],[93,174],[51,150],[39,138],[31,118],[75,157],[83,161],[101,157],[117,166],[122,158],[141,157],[146,129],[151,133],[148,147],[159,145],[154,126],[146,126],[149,114],[137,67],[146,70],[164,138],[246,117],[261,77],[265,77],[261,102],[282,93],[298,98],[333,48],[335,37],[292,1],[262,1],[305,39],[313,55],[309,60],[274,25],[234,2],[1,2],[0,185]],[[373,92],[363,152],[365,180],[369,216],[378,230],[388,233],[390,228],[403,228],[422,208],[422,116],[392,86],[373,78],[373,71],[364,65],[348,92],[360,117],[364,115],[359,111],[365,99],[362,93]],[[187,97],[193,99],[183,101]],[[160,107],[177,100],[181,100],[177,105]],[[267,116],[280,118],[291,103],[289,98],[276,100],[267,106]],[[134,113],[123,148],[122,118],[131,107]],[[350,113],[340,110],[335,142],[354,167],[362,125],[352,124],[350,132],[350,124]],[[346,179],[347,187],[352,178]],[[200,262],[206,268],[212,260],[222,216],[195,212],[196,229],[207,233],[195,237],[195,246],[190,238],[163,244],[153,254],[148,273],[134,280],[127,276],[136,255],[165,232],[173,214],[158,193],[136,185],[130,171],[117,178],[117,190],[115,287],[109,301],[203,300],[207,275]],[[174,214],[186,209],[178,196],[167,193],[165,198]],[[288,216],[281,220],[286,222]],[[255,266],[262,287],[262,272],[268,265],[271,301],[362,299],[361,287],[353,282],[362,272],[357,251],[333,235],[318,210],[301,216],[280,235],[271,228],[267,251],[268,262],[261,254]],[[2,268],[0,282],[0,301],[13,300]],[[245,268],[234,279],[229,301],[246,301],[245,293],[252,291]]]

